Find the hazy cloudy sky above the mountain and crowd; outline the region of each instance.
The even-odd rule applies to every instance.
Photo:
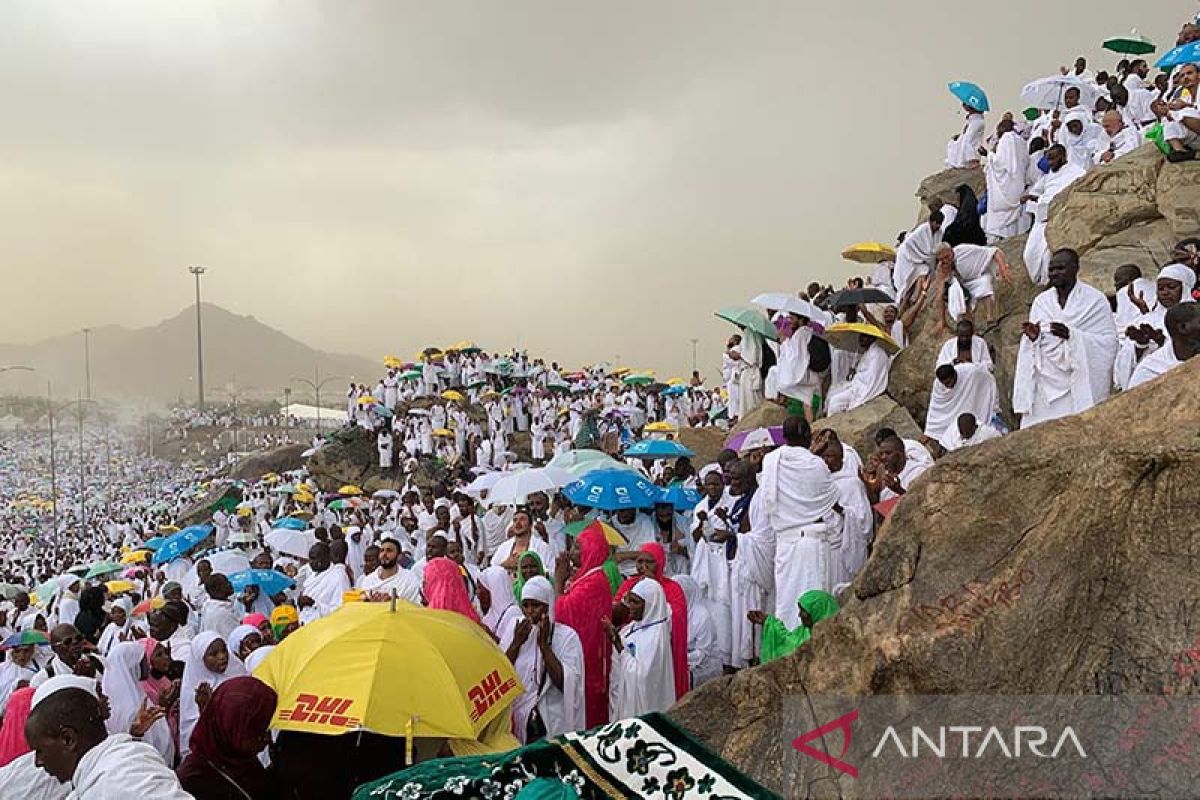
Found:
[[[6,0],[0,342],[205,299],[371,357],[680,373],[853,273],[961,125],[1195,2]],[[1093,58],[1094,56],[1094,58]],[[995,114],[992,115],[996,116]],[[989,120],[989,130],[991,120]]]

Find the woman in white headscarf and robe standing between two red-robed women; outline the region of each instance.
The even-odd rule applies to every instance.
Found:
[[[614,650],[608,681],[611,721],[666,711],[676,702],[671,608],[662,587],[653,578],[642,578],[622,602],[630,621],[619,632],[605,622]]]

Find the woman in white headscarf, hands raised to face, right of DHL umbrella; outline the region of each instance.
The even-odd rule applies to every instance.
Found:
[[[553,608],[550,581],[542,576],[529,578],[521,588],[523,615],[508,618],[500,628],[500,649],[526,687],[512,704],[521,744],[587,727],[583,645],[574,630],[554,622]]]

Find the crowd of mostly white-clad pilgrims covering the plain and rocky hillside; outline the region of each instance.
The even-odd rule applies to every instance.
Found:
[[[80,518],[72,498],[85,487],[64,475],[60,524],[48,529],[44,503],[34,499],[46,495],[44,443],[6,439],[0,547],[12,585],[0,606],[8,643],[0,795],[338,796],[350,787],[330,793],[322,774],[331,739],[272,733],[275,693],[252,675],[280,642],[346,602],[402,600],[486,630],[526,688],[512,706],[523,742],[665,710],[707,680],[792,652],[838,613],[887,504],[942,451],[1004,433],[991,353],[976,329],[977,319],[995,323],[994,277],[1008,271],[997,241],[1032,229],[1026,263],[1050,287],[1021,331],[1012,405],[1022,427],[1086,410],[1196,351],[1200,241],[1180,242],[1154,279],[1118,269],[1111,297],[1078,279],[1073,251],[1043,252],[1049,200],[1067,179],[1122,157],[1124,126],[1192,102],[1194,67],[1160,76],[1156,89],[1141,83],[1144,67],[1123,64],[1114,82],[1076,62],[1076,77],[1103,86],[1103,103],[1075,112],[1073,96],[1028,126],[1006,116],[986,140],[982,114],[967,108],[949,163],[984,170],[986,213],[964,187],[902,237],[894,261],[851,282],[892,302],[838,305],[820,285],[763,302],[776,336],[742,326],[716,386],[698,374],[654,385],[602,367],[565,373],[474,348],[396,365],[374,386],[353,385],[346,413],[349,426],[372,432],[378,465],[398,470],[403,488],[347,498],[322,493],[302,469],[264,476],[242,487],[238,510],[214,513],[211,540],[188,555],[155,567],[132,558],[132,588],[114,590],[112,576],[86,579],[72,567],[130,558],[169,533],[204,491],[197,476],[121,443],[108,463],[95,449],[67,449],[65,461],[84,459],[88,475],[108,471],[106,489]],[[1093,113],[1103,113],[1108,137],[1094,139],[1108,145],[1093,146],[1085,163],[1079,137]],[[859,453],[833,431],[814,431],[817,419],[883,393],[922,312],[953,331],[930,375],[924,435],[882,429],[874,452]],[[853,323],[857,336],[826,339]],[[599,512],[562,492],[493,504],[479,480],[538,469],[580,443],[619,457],[638,437],[726,428],[768,402],[790,410],[781,429],[749,431],[698,469],[686,457],[626,459],[622,469],[658,487],[643,507]],[[524,432],[533,464],[512,452]],[[450,477],[407,482],[428,458],[450,467]],[[292,491],[276,492],[278,481]],[[308,528],[276,528],[284,517]],[[230,563],[278,570],[295,588],[235,593],[215,567]],[[48,643],[25,643],[31,632]],[[371,739],[336,746],[334,758],[359,781],[402,766],[401,748],[364,744]]]

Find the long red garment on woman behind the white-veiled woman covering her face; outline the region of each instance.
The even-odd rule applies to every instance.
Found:
[[[583,645],[583,704],[587,727],[608,722],[608,672],[612,643],[604,619],[612,613],[612,584],[605,575],[608,542],[599,527],[580,534],[580,569],[554,601],[554,619],[571,627]]]

